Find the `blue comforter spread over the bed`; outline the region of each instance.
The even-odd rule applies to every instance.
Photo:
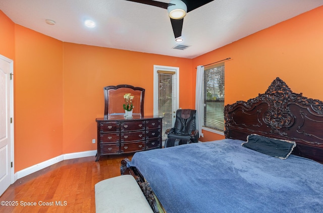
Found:
[[[219,140],[134,154],[160,203],[171,212],[323,212],[323,165],[268,156]]]

